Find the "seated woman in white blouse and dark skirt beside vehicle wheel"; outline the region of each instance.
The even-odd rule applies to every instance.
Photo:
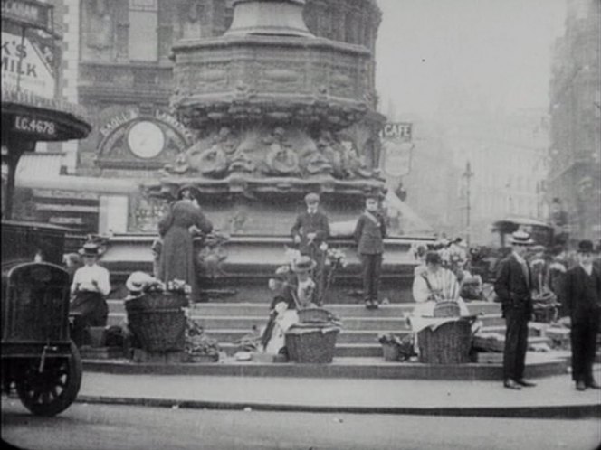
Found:
[[[71,285],[71,311],[80,313],[83,326],[106,326],[110,293],[109,271],[97,264],[100,248],[93,243],[80,249],[83,267],[78,268]]]

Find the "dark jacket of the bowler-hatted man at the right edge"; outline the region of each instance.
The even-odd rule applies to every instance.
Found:
[[[589,277],[580,265],[572,267],[566,272],[564,281],[564,298],[572,322],[577,322],[587,314],[598,314],[594,313],[601,307],[601,275],[598,268],[593,266]],[[587,293],[587,283],[593,286],[590,294]]]

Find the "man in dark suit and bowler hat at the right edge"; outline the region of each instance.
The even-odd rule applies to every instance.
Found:
[[[565,299],[571,318],[572,380],[577,390],[601,389],[593,378],[601,314],[601,275],[593,265],[593,243],[578,243],[578,265],[566,273]]]

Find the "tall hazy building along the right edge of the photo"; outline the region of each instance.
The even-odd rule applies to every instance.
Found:
[[[550,82],[550,199],[567,212],[572,239],[601,238],[601,3],[568,0]]]

